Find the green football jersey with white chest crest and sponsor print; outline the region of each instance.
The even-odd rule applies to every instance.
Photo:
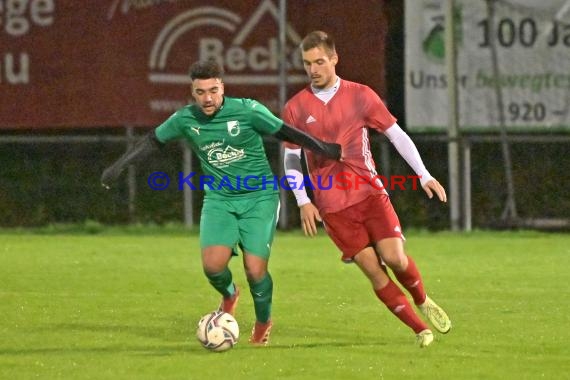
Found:
[[[274,194],[279,183],[265,155],[264,134],[274,134],[283,121],[252,99],[224,96],[212,116],[195,104],[176,111],[155,130],[159,141],[184,139],[200,159],[204,172],[181,173],[179,188],[192,184],[208,197]],[[191,183],[190,183],[191,181]]]

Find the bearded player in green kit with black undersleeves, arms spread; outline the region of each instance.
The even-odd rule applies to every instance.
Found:
[[[219,309],[234,314],[239,289],[228,263],[239,245],[256,316],[249,341],[266,345],[273,295],[268,260],[279,194],[262,135],[274,135],[331,160],[340,159],[340,145],[292,128],[255,100],[224,96],[222,68],[214,61],[194,63],[190,77],[195,104],[176,111],[105,169],[101,183],[108,188],[128,165],[142,162],[169,141],[186,140],[204,173],[214,179],[211,186],[204,187],[200,220],[204,273],[222,294]]]

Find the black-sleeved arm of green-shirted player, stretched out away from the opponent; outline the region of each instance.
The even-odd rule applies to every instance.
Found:
[[[156,139],[154,131],[149,132],[141,138],[131,149],[127,150],[117,161],[106,168],[101,175],[101,185],[110,189],[123,170],[129,165],[136,165],[158,151],[163,144]]]

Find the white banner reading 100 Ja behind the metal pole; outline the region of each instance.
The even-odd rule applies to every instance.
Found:
[[[412,131],[447,128],[445,1],[406,1]],[[513,131],[569,131],[570,0],[489,3],[492,17],[485,0],[454,1],[460,128],[497,130],[503,119]]]

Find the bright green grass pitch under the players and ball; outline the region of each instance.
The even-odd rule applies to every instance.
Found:
[[[426,349],[320,231],[279,232],[271,345],[195,339],[219,296],[195,233],[0,233],[1,379],[568,379],[570,235],[410,232],[406,243],[453,329]]]

